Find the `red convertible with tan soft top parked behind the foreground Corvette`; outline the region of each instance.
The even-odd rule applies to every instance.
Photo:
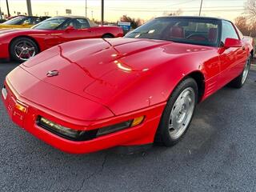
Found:
[[[83,17],[54,17],[40,22],[31,29],[0,30],[0,58],[24,62],[62,42],[122,36],[123,30],[118,26],[98,26]]]

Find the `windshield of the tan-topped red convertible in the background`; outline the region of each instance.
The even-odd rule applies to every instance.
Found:
[[[32,28],[37,30],[56,30],[64,22],[66,22],[66,18],[49,18]]]

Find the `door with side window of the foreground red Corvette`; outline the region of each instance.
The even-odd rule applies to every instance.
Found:
[[[222,53],[220,54],[220,69],[221,74],[219,78],[219,86],[225,86],[232,79],[238,77],[242,72],[243,66],[246,62],[245,47],[230,47],[223,48],[226,38],[235,38],[240,40],[234,25],[228,21],[222,21]]]

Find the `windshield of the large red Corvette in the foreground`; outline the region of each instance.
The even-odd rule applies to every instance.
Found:
[[[219,22],[205,18],[156,18],[126,34],[126,38],[150,38],[202,46],[218,46]]]

